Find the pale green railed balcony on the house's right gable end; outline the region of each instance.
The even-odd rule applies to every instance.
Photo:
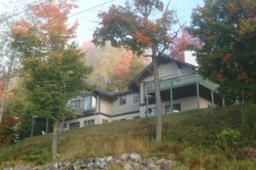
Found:
[[[187,86],[190,84],[199,83],[205,88],[216,91],[218,85],[214,82],[203,79],[200,74],[185,74],[170,79],[165,79],[160,81],[160,90],[179,88],[182,86]],[[145,93],[150,94],[155,92],[154,81],[149,81],[145,83]]]

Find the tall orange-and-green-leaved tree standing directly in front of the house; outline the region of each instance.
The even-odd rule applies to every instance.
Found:
[[[169,1],[170,4],[170,1]],[[162,138],[162,110],[159,89],[157,60],[176,39],[179,29],[173,32],[173,25],[178,24],[175,12],[164,9],[160,0],[134,0],[124,6],[113,5],[107,12],[100,12],[101,20],[93,34],[92,42],[104,46],[110,41],[112,46],[123,46],[141,55],[145,49],[152,50],[154,69],[155,96],[157,105],[156,142]],[[157,16],[160,16],[157,18]]]

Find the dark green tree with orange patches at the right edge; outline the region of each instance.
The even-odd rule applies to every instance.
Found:
[[[255,9],[254,0],[206,0],[189,28],[203,43],[196,50],[200,73],[234,100],[256,100]]]

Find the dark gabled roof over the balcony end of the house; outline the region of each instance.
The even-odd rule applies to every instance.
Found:
[[[169,62],[169,61],[176,62],[178,64],[178,66],[185,65],[187,67],[192,67],[194,69],[197,68],[197,66],[194,66],[194,65],[189,64],[183,60],[179,60],[179,59],[173,58],[173,57],[171,57],[169,55],[165,55],[165,54],[161,55],[160,58],[157,60],[158,64]],[[152,73],[153,73],[153,64],[150,63],[150,65],[145,67],[140,74],[135,76],[135,79],[133,81],[128,83],[128,89],[133,89],[135,91],[139,90],[140,81],[142,81],[143,78],[145,78],[146,76],[148,76]]]

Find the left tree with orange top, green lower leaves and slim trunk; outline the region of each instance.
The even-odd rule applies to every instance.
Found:
[[[77,24],[69,27],[68,14],[75,7],[67,1],[49,1],[33,8],[31,20],[20,20],[11,29],[13,47],[22,53],[33,114],[54,121],[54,159],[59,122],[69,113],[65,106],[84,89],[85,74],[90,71],[82,62],[84,53],[71,43]]]

